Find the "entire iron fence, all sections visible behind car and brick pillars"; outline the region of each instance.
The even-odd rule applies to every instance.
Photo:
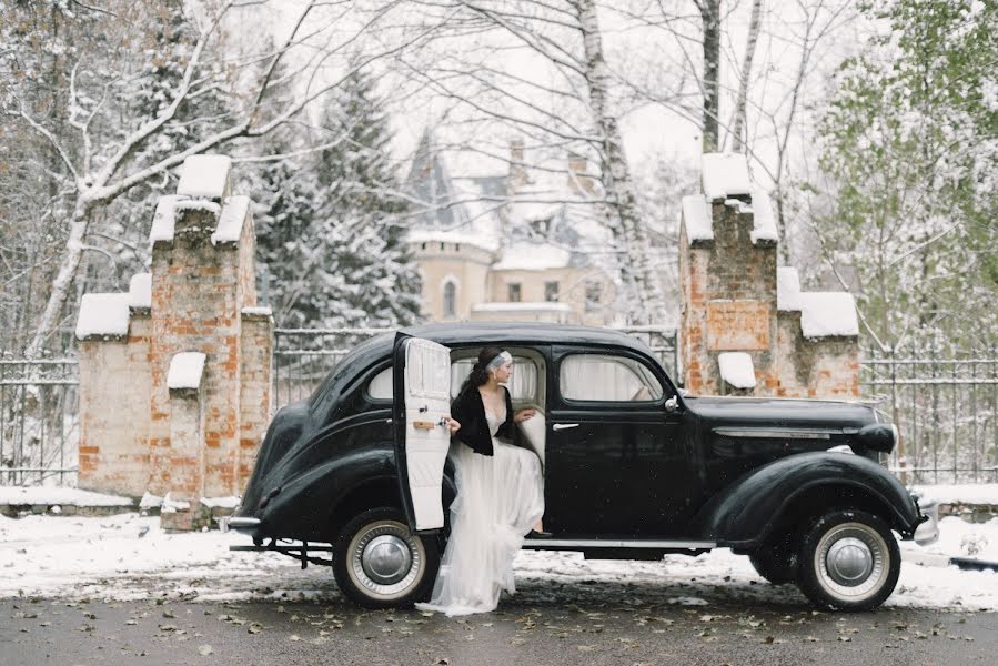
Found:
[[[674,331],[622,329],[643,339],[675,376]],[[381,329],[279,329],[274,403],[308,397]],[[0,357],[0,485],[77,482],[79,369],[72,359]],[[998,483],[998,354],[867,354],[864,400],[900,432],[890,467],[907,483]]]

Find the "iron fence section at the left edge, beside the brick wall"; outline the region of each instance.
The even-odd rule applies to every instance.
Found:
[[[79,367],[0,359],[0,485],[75,485]]]

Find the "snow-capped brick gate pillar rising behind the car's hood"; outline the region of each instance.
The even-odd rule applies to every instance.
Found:
[[[773,206],[752,182],[745,155],[705,154],[702,189],[683,199],[679,228],[685,387],[700,394],[858,395],[855,302],[844,293],[802,295],[799,285],[795,307],[780,301],[779,293],[789,293],[789,273],[777,270]],[[746,362],[753,385],[739,386],[729,379],[742,377],[734,367],[744,370]]]

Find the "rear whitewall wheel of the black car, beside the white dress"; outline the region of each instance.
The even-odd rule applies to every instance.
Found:
[[[429,596],[440,567],[435,537],[412,534],[395,507],[365,511],[336,537],[340,589],[365,608],[405,607]]]

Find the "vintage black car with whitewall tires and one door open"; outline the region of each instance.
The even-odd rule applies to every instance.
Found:
[[[484,345],[514,357],[518,444],[541,457],[544,525],[525,548],[655,559],[725,547],[814,603],[871,608],[898,579],[894,533],[938,528],[878,458],[897,431],[870,405],[693,397],[624,333],[437,324],[373,337],[274,417],[228,527],[332,565],[367,607],[429,595],[455,495],[440,415]],[[324,554],[330,554],[326,557]]]

